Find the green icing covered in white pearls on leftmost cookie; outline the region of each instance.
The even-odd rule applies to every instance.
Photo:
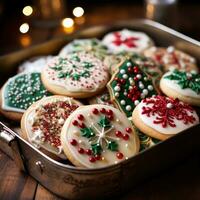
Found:
[[[26,110],[35,101],[51,94],[42,84],[40,73],[33,72],[16,75],[9,79],[3,95],[5,106]]]

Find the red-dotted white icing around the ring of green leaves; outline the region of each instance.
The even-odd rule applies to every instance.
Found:
[[[54,67],[55,63],[58,63],[59,57],[55,57],[43,69],[42,73],[45,76],[45,79],[47,79],[51,84],[63,87],[70,92],[95,92],[103,88],[109,79],[108,70],[103,65],[103,62],[92,54],[85,52],[77,53],[77,56],[81,59],[80,62],[72,60],[72,55],[73,54],[68,54],[65,56],[66,63],[62,65],[63,70],[74,71],[73,66],[75,65],[76,70],[78,70],[79,73],[82,73],[85,70],[83,62],[90,62],[94,66],[87,69],[90,73],[89,77],[81,76],[78,81],[67,77],[58,78],[60,72],[51,69],[51,67]]]

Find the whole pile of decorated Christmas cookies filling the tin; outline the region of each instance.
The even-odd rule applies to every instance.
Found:
[[[200,106],[195,58],[127,29],[25,61],[0,92],[0,112],[21,121],[24,139],[84,168],[117,164],[197,125],[191,106]]]

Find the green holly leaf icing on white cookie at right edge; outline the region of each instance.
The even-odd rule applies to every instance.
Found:
[[[182,89],[189,88],[197,94],[200,94],[200,74],[175,69],[171,74],[164,76],[164,78],[175,80]]]

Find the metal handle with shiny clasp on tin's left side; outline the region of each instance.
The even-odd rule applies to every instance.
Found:
[[[26,171],[16,136],[0,123],[0,141],[11,149],[12,158],[20,170]],[[3,149],[2,149],[3,150]],[[5,151],[4,151],[5,152]]]

